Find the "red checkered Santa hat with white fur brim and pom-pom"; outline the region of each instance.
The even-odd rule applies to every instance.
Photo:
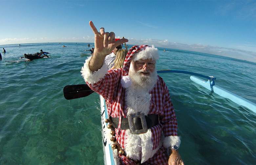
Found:
[[[131,65],[131,60],[138,61],[140,59],[153,59],[153,60],[158,60],[159,59],[159,54],[158,54],[158,49],[155,48],[154,46],[148,46],[148,45],[137,45],[133,46],[130,48],[128,51],[124,64],[123,64],[123,70],[124,70],[124,75],[121,80],[121,84],[124,88],[129,87],[132,84],[131,78],[128,76],[129,73],[129,68]]]

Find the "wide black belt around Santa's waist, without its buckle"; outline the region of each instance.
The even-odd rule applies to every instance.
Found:
[[[145,116],[145,118],[146,118],[146,123],[147,123],[148,129],[159,123],[159,115],[150,114],[150,115]],[[118,123],[119,123],[119,118],[109,117],[109,119],[110,119],[113,127],[117,128]],[[135,130],[143,129],[140,117],[134,117],[133,123],[134,123]],[[122,118],[121,129],[123,129],[123,130],[130,129],[128,118]]]

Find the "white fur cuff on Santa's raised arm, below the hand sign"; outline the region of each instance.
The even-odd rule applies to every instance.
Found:
[[[81,69],[81,73],[86,82],[94,84],[100,81],[100,78],[103,78],[105,74],[108,73],[108,68],[106,65],[103,65],[98,71],[92,72],[89,68],[89,62],[91,58],[92,56],[85,60],[84,66]]]

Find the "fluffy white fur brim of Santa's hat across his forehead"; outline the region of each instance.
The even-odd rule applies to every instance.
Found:
[[[158,49],[152,45],[152,47],[146,47],[144,50],[139,51],[138,53],[135,53],[133,56],[134,61],[138,61],[140,59],[153,59],[158,60],[159,54]]]

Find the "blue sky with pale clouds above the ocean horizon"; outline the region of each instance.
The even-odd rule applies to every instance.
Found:
[[[0,45],[94,42],[89,26],[129,45],[192,50],[256,62],[256,1],[0,0]]]

